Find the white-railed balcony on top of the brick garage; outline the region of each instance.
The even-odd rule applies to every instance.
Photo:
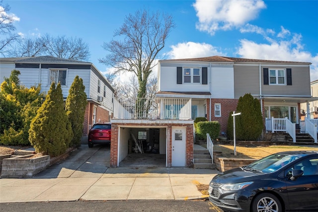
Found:
[[[191,119],[191,98],[115,100],[114,119],[189,120]]]

